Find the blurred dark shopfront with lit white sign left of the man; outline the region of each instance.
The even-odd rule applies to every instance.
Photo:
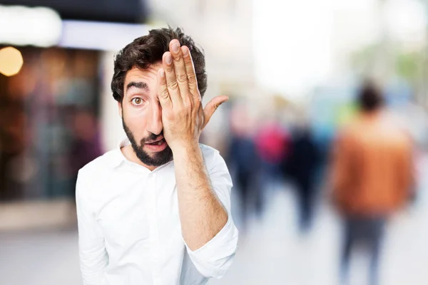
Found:
[[[106,149],[103,58],[147,33],[148,14],[140,0],[0,1],[0,202],[73,197]]]

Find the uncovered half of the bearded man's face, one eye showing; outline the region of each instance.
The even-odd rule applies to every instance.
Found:
[[[119,103],[125,130],[134,152],[148,166],[161,166],[173,159],[173,152],[163,138],[162,108],[158,100],[157,73],[162,63],[146,69],[132,68],[123,84]]]

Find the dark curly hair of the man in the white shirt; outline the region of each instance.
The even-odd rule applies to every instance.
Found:
[[[114,73],[111,79],[111,90],[116,101],[122,103],[126,73],[134,67],[148,68],[148,66],[162,61],[163,53],[169,51],[169,43],[174,38],[180,41],[181,46],[187,46],[190,50],[200,96],[203,97],[207,89],[203,51],[196,47],[193,39],[190,36],[186,36],[180,28],[173,29],[168,27],[149,31],[148,35],[136,38],[116,54]]]

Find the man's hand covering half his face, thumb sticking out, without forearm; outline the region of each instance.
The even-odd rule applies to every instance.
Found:
[[[202,107],[192,56],[187,46],[170,41],[158,71],[158,97],[162,106],[163,135],[170,148],[195,145],[218,106],[228,96],[217,96]]]

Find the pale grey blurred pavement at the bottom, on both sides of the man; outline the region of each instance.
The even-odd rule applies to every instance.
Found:
[[[419,173],[427,172],[428,157],[424,157],[419,163]],[[427,189],[426,175],[419,181],[421,188]],[[324,203],[317,209],[312,232],[300,237],[290,190],[277,185],[270,187],[270,191],[267,212],[260,220],[251,219],[248,234],[241,236],[232,268],[223,279],[211,280],[208,284],[337,284],[341,242],[337,215],[322,199]],[[394,217],[387,229],[380,274],[382,284],[428,282],[425,269],[428,195],[419,192],[418,198],[414,207]],[[81,284],[76,229],[0,234],[0,252],[1,284]],[[365,266],[362,253],[357,252],[352,259],[351,285],[365,284]]]

